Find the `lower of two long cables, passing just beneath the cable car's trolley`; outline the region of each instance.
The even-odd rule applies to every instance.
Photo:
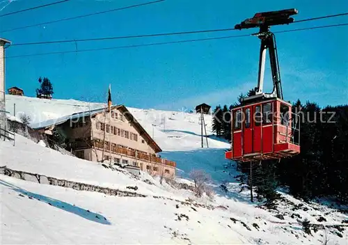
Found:
[[[313,30],[313,29],[324,29],[329,27],[338,27],[338,26],[348,26],[348,23],[344,24],[331,24],[327,26],[313,26],[313,27],[307,27],[307,28],[301,28],[301,29],[292,29],[292,30],[286,30],[286,31],[274,31],[274,33],[287,33],[292,31],[304,31],[304,30]],[[199,41],[207,41],[207,40],[222,40],[222,39],[230,39],[230,38],[242,38],[246,36],[253,35],[251,34],[245,34],[245,35],[228,35],[224,37],[215,37],[215,38],[198,38],[198,39],[191,39],[191,40],[179,40],[179,41],[171,41],[171,42],[154,42],[154,43],[148,43],[143,45],[127,45],[127,46],[118,46],[118,47],[102,47],[102,48],[95,48],[95,49],[80,49],[80,50],[69,50],[69,51],[63,51],[63,52],[48,52],[48,53],[41,53],[41,54],[25,54],[20,56],[6,56],[6,58],[22,58],[22,57],[31,57],[31,56],[44,56],[49,54],[69,54],[69,53],[79,53],[79,52],[93,52],[97,50],[107,50],[107,49],[126,49],[126,48],[134,48],[134,47],[150,47],[150,46],[157,46],[157,45],[169,45],[169,44],[177,44],[177,43],[184,43],[184,42],[199,42]]]

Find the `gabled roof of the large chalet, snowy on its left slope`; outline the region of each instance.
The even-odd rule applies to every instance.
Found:
[[[155,150],[155,152],[162,151],[162,149],[159,147],[159,145],[157,145],[157,143],[151,138],[150,134],[148,134],[148,132],[146,132],[146,130],[143,128],[143,126],[141,126],[141,124],[136,120],[136,118],[134,118],[132,113],[130,113],[130,111],[128,111],[126,106],[124,106],[122,104],[118,105],[118,106],[111,106],[111,110],[112,109],[118,109],[123,114],[123,116],[125,116],[125,118],[127,118],[127,120],[129,120],[131,125],[139,132],[139,134],[141,136],[143,136],[145,140],[147,140],[148,144],[150,146],[152,146],[152,148]],[[55,125],[61,125],[64,122],[67,122],[68,120],[74,120],[74,119],[82,118],[82,117],[86,117],[86,116],[93,117],[99,113],[103,113],[104,111],[105,111],[104,108],[95,109],[95,110],[91,110],[91,111],[81,111],[78,113],[73,113],[73,114],[68,115],[68,116],[63,116],[61,118],[56,118],[56,119],[46,120],[44,122],[39,122],[35,125],[32,125],[32,128],[33,129],[47,129],[47,128],[55,126]]]

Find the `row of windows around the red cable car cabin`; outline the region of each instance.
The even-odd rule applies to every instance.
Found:
[[[260,126],[261,122],[263,125],[267,125],[272,122],[272,104],[271,103],[262,104],[262,112],[261,112],[260,105],[255,106],[254,110],[255,111],[253,115],[253,121],[255,126]],[[244,118],[242,118],[243,116]],[[242,113],[242,109],[235,111],[233,118],[234,118],[234,123],[233,123],[234,130],[241,129],[243,121],[244,121],[244,127],[246,129],[251,127],[251,109],[250,108],[244,109],[244,115]],[[287,125],[288,121],[289,121],[289,107],[282,104],[280,106],[280,122],[282,125]]]

